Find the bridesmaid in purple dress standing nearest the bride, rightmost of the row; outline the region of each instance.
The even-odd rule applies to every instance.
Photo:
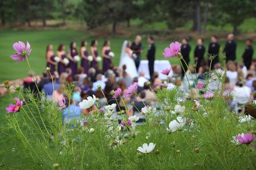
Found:
[[[112,65],[112,62],[111,62],[112,57],[109,56],[110,50],[111,50],[110,41],[105,41],[102,48],[102,57],[103,57],[102,74],[105,74],[105,72],[109,70],[110,65]]]

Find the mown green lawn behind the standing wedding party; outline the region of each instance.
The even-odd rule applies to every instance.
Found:
[[[5,79],[16,79],[22,78],[27,75],[28,68],[25,62],[15,63],[10,58],[10,55],[14,53],[13,43],[15,41],[29,41],[32,46],[32,53],[30,57],[30,63],[33,70],[36,71],[36,74],[40,74],[42,70],[46,67],[46,46],[47,44],[53,44],[54,50],[56,51],[57,45],[59,43],[63,43],[65,45],[69,45],[69,42],[76,41],[78,45],[80,45],[81,40],[87,40],[90,42],[93,37],[89,37],[89,34],[81,31],[63,31],[63,30],[51,30],[51,31],[0,31],[0,82]],[[131,37],[130,40],[133,40],[134,37]],[[103,41],[106,39],[97,39],[99,41],[98,49],[101,49]],[[111,41],[111,47],[113,52],[115,53],[115,58],[113,58],[113,62],[115,65],[119,63],[119,54],[121,52],[122,38],[109,37]],[[164,47],[168,46],[172,40],[170,41],[159,41],[156,40],[156,58],[164,59],[162,52]],[[191,50],[191,61],[193,61],[193,49],[195,48],[195,40],[190,42],[192,46]],[[205,45],[208,46],[209,40],[205,40]],[[221,41],[221,46],[223,47],[225,41]],[[142,55],[142,59],[146,59],[146,50],[148,43],[146,40],[142,41],[144,46],[144,52]],[[256,44],[254,43],[254,46]],[[89,46],[88,46],[89,48]],[[237,42],[237,57],[238,61],[241,61],[241,55],[245,48],[245,43],[243,41]],[[170,59],[171,63],[178,63],[177,59]]]

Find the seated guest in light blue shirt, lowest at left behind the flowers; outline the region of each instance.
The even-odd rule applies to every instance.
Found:
[[[68,103],[69,103],[68,97],[65,97],[65,103],[67,104],[67,106],[65,109],[62,110],[63,123],[71,124],[71,126],[74,126],[74,124],[77,124],[76,126],[80,125],[80,116],[81,116],[80,107],[75,105],[72,99],[68,107]]]

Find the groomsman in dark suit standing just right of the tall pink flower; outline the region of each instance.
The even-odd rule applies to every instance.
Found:
[[[181,52],[181,55],[182,55],[184,61],[187,63],[187,65],[189,64],[189,61],[190,61],[190,59],[189,59],[190,50],[191,50],[191,47],[188,44],[188,39],[183,38],[180,52]],[[184,70],[186,72],[188,70],[188,67],[185,65],[185,62],[183,61],[183,59],[181,60],[181,64],[184,67]],[[181,69],[181,70],[182,70],[182,78],[183,78],[185,75],[185,72],[183,69]]]

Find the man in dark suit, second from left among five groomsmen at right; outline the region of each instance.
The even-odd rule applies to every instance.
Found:
[[[198,73],[199,67],[201,66],[201,61],[204,60],[204,53],[205,53],[205,47],[203,45],[203,39],[198,39],[197,46],[194,51],[195,62],[197,62],[197,65],[196,65],[197,73]]]

